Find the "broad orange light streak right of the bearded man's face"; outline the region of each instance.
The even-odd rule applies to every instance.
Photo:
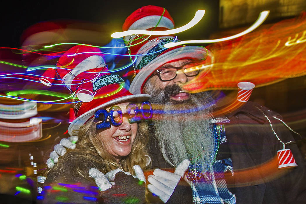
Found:
[[[256,87],[306,74],[305,16],[283,20],[265,30],[207,46],[215,62],[210,72],[200,72],[183,86],[191,92],[236,89],[240,81]],[[300,36],[300,37],[297,37]],[[297,43],[298,42],[298,43]]]

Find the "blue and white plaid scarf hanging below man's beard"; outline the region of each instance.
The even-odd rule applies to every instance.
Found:
[[[220,143],[225,143],[225,131],[222,131]],[[227,189],[224,173],[228,170],[233,175],[233,164],[230,158],[217,160],[213,164],[214,174],[211,175],[210,181],[198,180],[192,182],[194,203],[236,203],[236,197]]]

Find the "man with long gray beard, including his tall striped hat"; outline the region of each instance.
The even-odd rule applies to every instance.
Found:
[[[144,6],[127,17],[122,28],[165,31],[174,28],[174,21],[164,8]],[[137,56],[129,91],[150,94],[154,105],[152,164],[177,167],[174,173],[157,169],[148,176],[152,193],[164,202],[173,201],[178,194],[184,197],[182,190],[188,193],[188,189],[181,189],[179,179],[172,177],[178,174],[192,187],[195,203],[305,201],[305,164],[297,146],[289,142],[294,141],[293,136],[278,113],[246,102],[216,118],[210,92],[191,94],[182,89],[201,67],[202,76],[209,72],[214,64],[209,50],[200,46],[164,48],[178,41],[172,35],[129,35],[125,41],[131,57]],[[297,168],[278,169],[276,152],[282,143],[276,138],[289,142],[286,147]],[[186,158],[190,165],[184,176],[177,169]],[[184,198],[179,202],[185,203]]]

